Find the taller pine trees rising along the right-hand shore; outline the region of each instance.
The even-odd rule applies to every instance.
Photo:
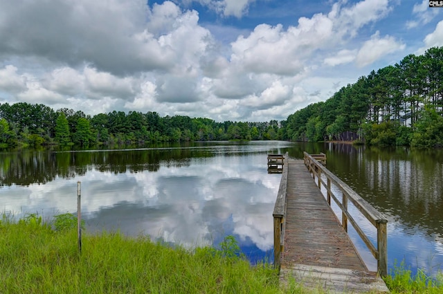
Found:
[[[443,47],[371,71],[284,123],[284,138],[443,146]]]

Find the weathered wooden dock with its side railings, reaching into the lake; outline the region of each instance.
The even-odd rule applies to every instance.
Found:
[[[386,275],[386,268],[383,268],[386,251],[381,252],[386,250],[383,248],[386,226],[382,225],[384,233],[379,233],[381,240],[378,243],[381,247],[375,249],[369,245],[371,251],[376,251],[375,257],[381,261],[379,273],[371,272],[347,235],[348,222],[358,227],[347,212],[347,199],[353,201],[356,193],[347,191],[349,187],[343,183],[345,196],[341,208],[345,212],[341,223],[330,208],[331,198],[338,201],[331,190],[331,182],[335,184],[338,178],[332,175],[332,179],[329,179],[329,171],[312,156],[308,160],[306,157],[305,160],[293,160],[286,154],[284,161],[273,213],[274,264],[280,268],[280,282],[287,284],[288,279],[293,278],[306,287],[323,289],[329,293],[388,293],[380,277]],[[321,172],[325,174],[323,179]],[[326,183],[324,178],[327,178]],[[327,187],[327,198],[318,189],[321,183]],[[374,218],[374,223],[386,225],[381,214],[363,199],[356,198],[360,206],[363,205],[359,209],[368,210],[367,214]],[[359,228],[356,230],[361,231]]]

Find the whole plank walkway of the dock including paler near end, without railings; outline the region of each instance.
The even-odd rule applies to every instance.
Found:
[[[329,293],[388,293],[381,277],[365,266],[305,162],[289,159],[286,168],[280,282],[292,277]]]

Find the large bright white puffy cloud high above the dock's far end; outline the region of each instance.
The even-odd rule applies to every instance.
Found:
[[[230,61],[253,73],[297,75],[305,70],[304,61],[332,36],[332,21],[324,15],[301,18],[297,27],[286,31],[282,25],[261,24],[248,36],[231,44]]]

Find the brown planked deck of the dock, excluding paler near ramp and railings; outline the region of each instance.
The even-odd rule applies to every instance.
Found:
[[[338,268],[342,266],[341,262],[345,266],[355,264],[354,268],[367,270],[301,160],[288,163],[285,222],[282,265],[303,259],[310,263],[333,264]],[[329,254],[342,256],[332,259]]]

